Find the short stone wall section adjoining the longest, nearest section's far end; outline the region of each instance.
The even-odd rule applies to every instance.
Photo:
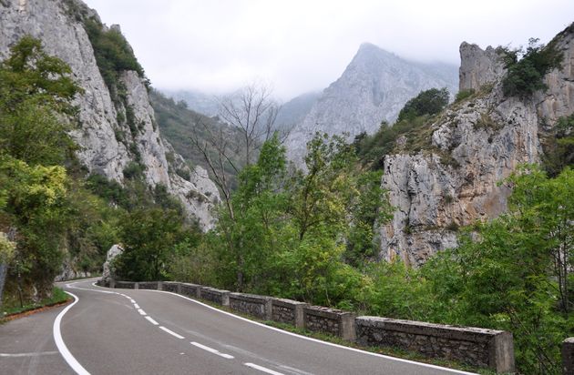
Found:
[[[353,312],[340,309],[323,308],[322,306],[303,307],[305,328],[316,332],[329,333],[354,341],[355,329]]]

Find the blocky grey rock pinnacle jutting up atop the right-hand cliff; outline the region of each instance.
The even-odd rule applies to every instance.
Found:
[[[502,74],[504,65],[495,48],[482,50],[477,45],[463,42],[460,45],[459,90],[478,90],[480,86],[494,83]]]

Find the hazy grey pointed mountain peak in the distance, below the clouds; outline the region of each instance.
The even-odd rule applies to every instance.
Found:
[[[382,121],[392,122],[406,101],[420,91],[446,87],[457,90],[456,66],[407,61],[378,46],[363,44],[343,75],[323,90],[309,113],[287,140],[289,155],[299,159],[317,131],[374,133]]]

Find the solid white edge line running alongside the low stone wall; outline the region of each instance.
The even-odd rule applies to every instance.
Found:
[[[102,288],[102,287],[99,287],[99,288]],[[289,331],[286,331],[286,330],[276,329],[275,327],[267,326],[267,325],[265,325],[265,324],[263,324],[263,323],[260,323],[259,321],[253,321],[253,320],[250,320],[250,319],[247,319],[247,318],[243,318],[243,317],[240,317],[240,316],[231,314],[231,312],[227,312],[227,311],[223,311],[223,310],[214,308],[214,307],[212,307],[212,306],[210,306],[210,305],[207,305],[207,304],[205,304],[205,303],[203,303],[203,302],[200,302],[199,300],[190,299],[190,298],[188,298],[188,297],[181,296],[180,294],[173,293],[173,292],[171,292],[171,291],[167,291],[167,290],[154,290],[154,289],[146,289],[146,291],[157,292],[157,293],[172,294],[172,295],[174,295],[174,296],[179,297],[180,299],[188,299],[188,300],[190,300],[191,302],[197,303],[198,305],[203,306],[203,307],[205,307],[205,308],[207,308],[207,309],[212,309],[212,310],[214,310],[214,311],[218,311],[220,314],[228,315],[228,316],[230,316],[230,317],[233,317],[233,318],[235,318],[235,319],[240,319],[240,320],[243,320],[243,321],[248,321],[248,322],[250,322],[251,324],[255,324],[256,326],[260,326],[260,327],[263,327],[263,328],[265,328],[265,329],[271,329],[271,330],[274,330],[274,331],[277,331],[277,332],[281,332],[281,333],[284,334],[284,335],[294,336],[294,337],[297,337],[297,338],[302,339],[302,340],[309,340],[309,341],[317,342],[317,343],[320,343],[320,344],[323,344],[323,345],[331,346],[331,347],[334,347],[334,348],[340,348],[340,349],[343,349],[343,350],[356,351],[356,352],[363,353],[363,354],[366,354],[366,355],[369,355],[369,356],[384,358],[384,359],[386,359],[386,360],[395,360],[395,361],[397,361],[397,362],[410,363],[410,364],[414,364],[414,365],[426,367],[426,368],[429,368],[429,369],[443,370],[443,371],[448,371],[448,372],[452,372],[452,373],[455,373],[455,374],[477,375],[476,372],[466,372],[466,371],[461,371],[461,370],[449,369],[449,368],[447,368],[447,367],[431,365],[431,364],[423,363],[423,362],[416,362],[415,360],[404,360],[404,359],[402,359],[402,358],[396,358],[396,357],[385,356],[384,354],[373,353],[373,352],[371,352],[371,351],[360,350],[360,349],[351,348],[351,347],[345,347],[345,346],[339,345],[339,344],[333,344],[333,342],[327,342],[327,341],[317,340],[317,339],[313,339],[313,338],[308,338],[308,337],[306,337],[306,336],[298,335],[298,334],[296,334],[296,333],[292,333],[292,332],[289,332]]]

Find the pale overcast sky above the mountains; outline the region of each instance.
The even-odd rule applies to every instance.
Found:
[[[459,64],[462,41],[548,42],[572,0],[85,0],[119,24],[152,85],[221,94],[254,79],[283,100],[337,79],[363,42]]]

